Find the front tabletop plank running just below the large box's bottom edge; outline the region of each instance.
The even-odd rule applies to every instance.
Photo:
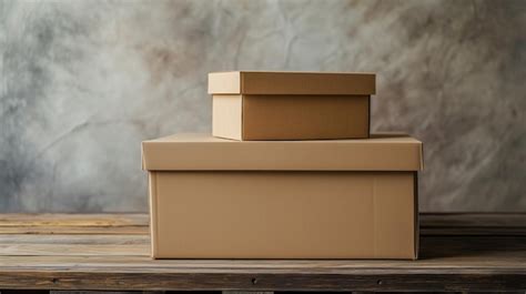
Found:
[[[195,260],[153,261],[148,256],[2,256],[0,271],[55,272],[77,271],[90,273],[139,273],[163,275],[171,273],[206,274],[526,274],[524,258],[517,262],[495,257],[484,261],[477,257],[445,257],[422,261],[255,261],[213,260],[204,263]],[[520,262],[523,264],[520,264]]]

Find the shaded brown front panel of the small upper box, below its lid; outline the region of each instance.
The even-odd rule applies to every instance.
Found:
[[[243,140],[368,138],[368,95],[243,95]]]

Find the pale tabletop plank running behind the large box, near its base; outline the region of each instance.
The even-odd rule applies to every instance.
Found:
[[[423,236],[421,258],[469,254],[484,258],[522,258],[526,237],[519,236]],[[1,255],[138,255],[150,253],[148,235],[0,235]]]

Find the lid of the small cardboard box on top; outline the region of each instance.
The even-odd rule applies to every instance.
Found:
[[[231,71],[209,73],[209,94],[376,93],[374,73]]]

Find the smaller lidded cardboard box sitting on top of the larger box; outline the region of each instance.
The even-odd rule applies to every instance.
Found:
[[[368,138],[372,73],[213,72],[212,134],[234,140]]]

